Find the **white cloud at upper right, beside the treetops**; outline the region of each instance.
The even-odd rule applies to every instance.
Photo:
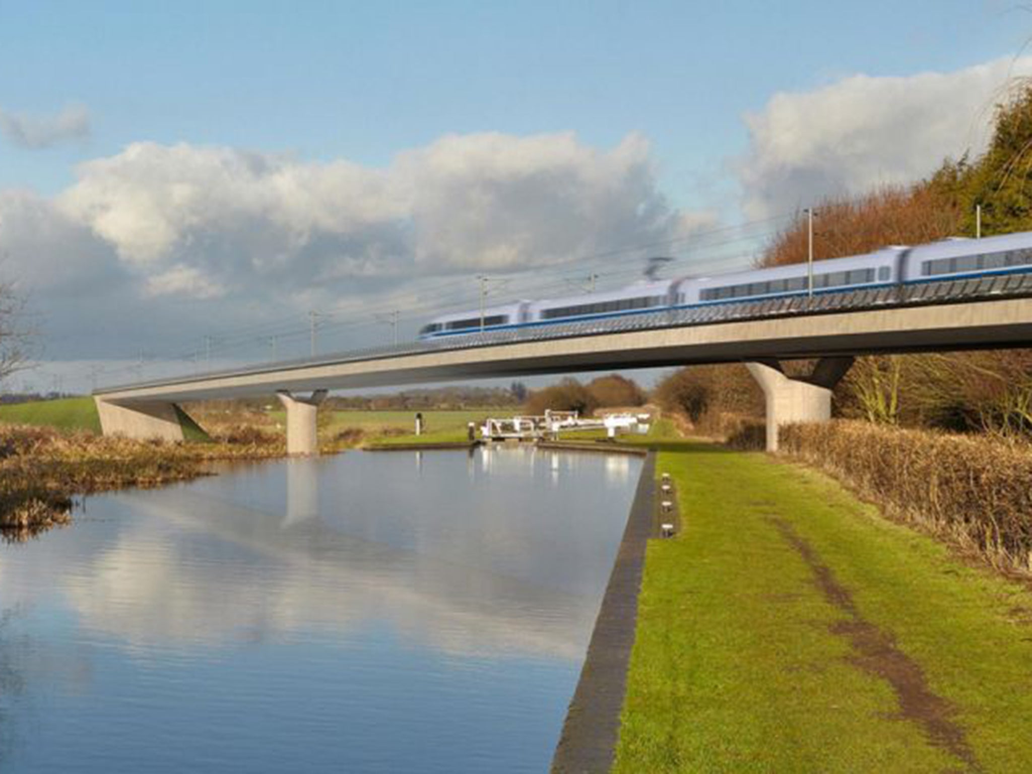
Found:
[[[1032,58],[955,72],[852,75],[810,92],[778,93],[746,115],[749,150],[735,166],[751,218],[791,212],[928,175],[946,156],[978,153],[1008,77]]]

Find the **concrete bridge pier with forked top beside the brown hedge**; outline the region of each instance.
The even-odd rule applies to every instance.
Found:
[[[832,418],[832,388],[852,365],[851,357],[824,357],[808,377],[788,377],[780,360],[746,363],[767,398],[767,451],[778,449],[778,428],[791,422]]]

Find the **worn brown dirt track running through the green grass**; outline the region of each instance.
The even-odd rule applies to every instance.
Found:
[[[831,631],[849,640],[856,651],[851,663],[889,682],[899,701],[901,717],[918,723],[932,744],[963,761],[969,771],[980,771],[964,729],[954,720],[954,707],[932,692],[921,667],[896,647],[890,634],[860,615],[848,589],[835,579],[792,524],[778,516],[768,518],[813,571],[816,586],[828,602],[848,616],[833,624]]]

